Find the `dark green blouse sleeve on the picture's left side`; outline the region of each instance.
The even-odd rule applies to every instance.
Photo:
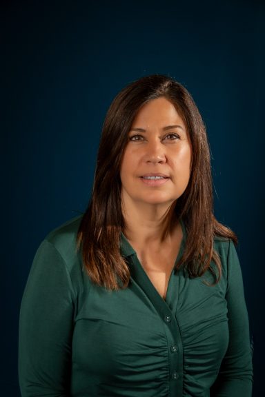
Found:
[[[74,291],[66,264],[43,241],[30,270],[19,320],[22,397],[69,397]]]

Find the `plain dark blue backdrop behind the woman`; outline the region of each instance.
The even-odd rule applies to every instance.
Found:
[[[260,396],[264,2],[6,1],[0,10],[1,395],[19,396],[19,305],[32,258],[52,228],[86,209],[110,101],[163,73],[188,88],[206,123],[215,214],[239,236]]]

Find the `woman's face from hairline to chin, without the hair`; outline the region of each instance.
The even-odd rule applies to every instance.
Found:
[[[174,105],[161,97],[139,110],[121,161],[121,199],[130,205],[170,205],[190,178],[191,145]]]

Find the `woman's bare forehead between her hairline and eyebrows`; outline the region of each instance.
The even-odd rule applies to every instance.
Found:
[[[152,99],[139,109],[133,120],[133,126],[142,123],[156,125],[181,123],[184,125],[175,105],[164,97]]]

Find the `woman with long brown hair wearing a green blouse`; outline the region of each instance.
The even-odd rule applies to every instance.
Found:
[[[35,256],[22,396],[251,396],[236,241],[213,216],[190,94],[160,75],[128,85],[106,115],[88,210]]]

